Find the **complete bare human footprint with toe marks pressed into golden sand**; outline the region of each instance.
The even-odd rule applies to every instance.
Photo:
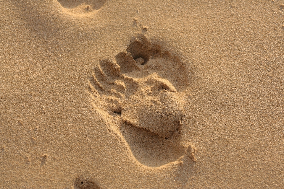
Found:
[[[186,154],[179,93],[188,86],[187,74],[177,57],[141,34],[94,69],[89,82],[94,108],[141,164],[159,167]]]

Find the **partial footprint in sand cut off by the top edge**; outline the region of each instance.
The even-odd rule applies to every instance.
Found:
[[[107,0],[57,0],[71,14],[89,14],[99,10]]]

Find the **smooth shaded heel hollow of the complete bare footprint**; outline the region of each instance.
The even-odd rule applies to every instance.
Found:
[[[155,133],[130,124],[123,124],[120,132],[133,156],[148,167],[159,167],[173,162],[185,153],[183,146],[179,146],[177,141],[173,142],[172,137],[161,138]]]

